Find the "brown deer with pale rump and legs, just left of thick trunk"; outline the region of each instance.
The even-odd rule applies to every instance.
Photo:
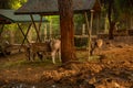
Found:
[[[55,64],[55,56],[58,54],[60,57],[61,41],[60,40],[50,40],[44,43],[31,43],[27,48],[29,61],[34,61],[38,56],[41,61],[48,56],[52,57],[52,63]]]

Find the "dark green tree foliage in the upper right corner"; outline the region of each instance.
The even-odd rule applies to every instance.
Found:
[[[133,14],[132,0],[101,0],[101,3],[102,13],[111,15],[111,21],[120,22],[122,28],[127,28],[127,19]],[[109,13],[109,6],[112,6],[111,13]]]

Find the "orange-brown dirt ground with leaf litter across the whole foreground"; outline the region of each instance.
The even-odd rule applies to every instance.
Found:
[[[0,88],[133,88],[132,38],[120,40],[105,41],[88,62],[78,51],[80,62],[65,65],[28,62],[22,53],[0,57]]]

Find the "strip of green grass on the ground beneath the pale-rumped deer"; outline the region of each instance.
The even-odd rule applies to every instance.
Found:
[[[55,65],[60,65],[61,63],[57,61]],[[43,67],[43,66],[53,66],[51,59],[40,61],[35,59],[33,62],[25,61],[25,59],[19,59],[19,61],[8,61],[2,64],[0,64],[0,68],[23,68],[23,67]]]

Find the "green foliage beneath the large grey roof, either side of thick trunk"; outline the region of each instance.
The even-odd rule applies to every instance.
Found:
[[[49,20],[48,36],[50,34],[49,29],[51,28],[52,33],[53,33],[52,36],[53,37],[59,37],[59,35],[60,35],[60,16],[59,15],[49,15],[49,16],[45,16],[45,18]],[[81,33],[81,31],[78,31],[78,30],[81,30],[82,24],[85,22],[83,14],[75,14],[73,20],[74,20],[74,23],[75,23],[76,32]]]

